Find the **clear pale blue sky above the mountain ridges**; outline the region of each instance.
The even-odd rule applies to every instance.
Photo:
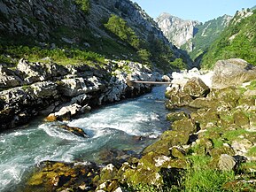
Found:
[[[252,8],[255,0],[132,0],[152,18],[168,12],[181,19],[206,22],[224,14],[234,16],[242,8]]]

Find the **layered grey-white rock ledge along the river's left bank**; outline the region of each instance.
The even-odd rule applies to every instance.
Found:
[[[104,65],[57,65],[20,59],[0,66],[0,130],[18,127],[37,115],[69,120],[91,107],[139,96],[151,90],[129,80],[161,81],[159,73],[134,62],[107,60]]]

